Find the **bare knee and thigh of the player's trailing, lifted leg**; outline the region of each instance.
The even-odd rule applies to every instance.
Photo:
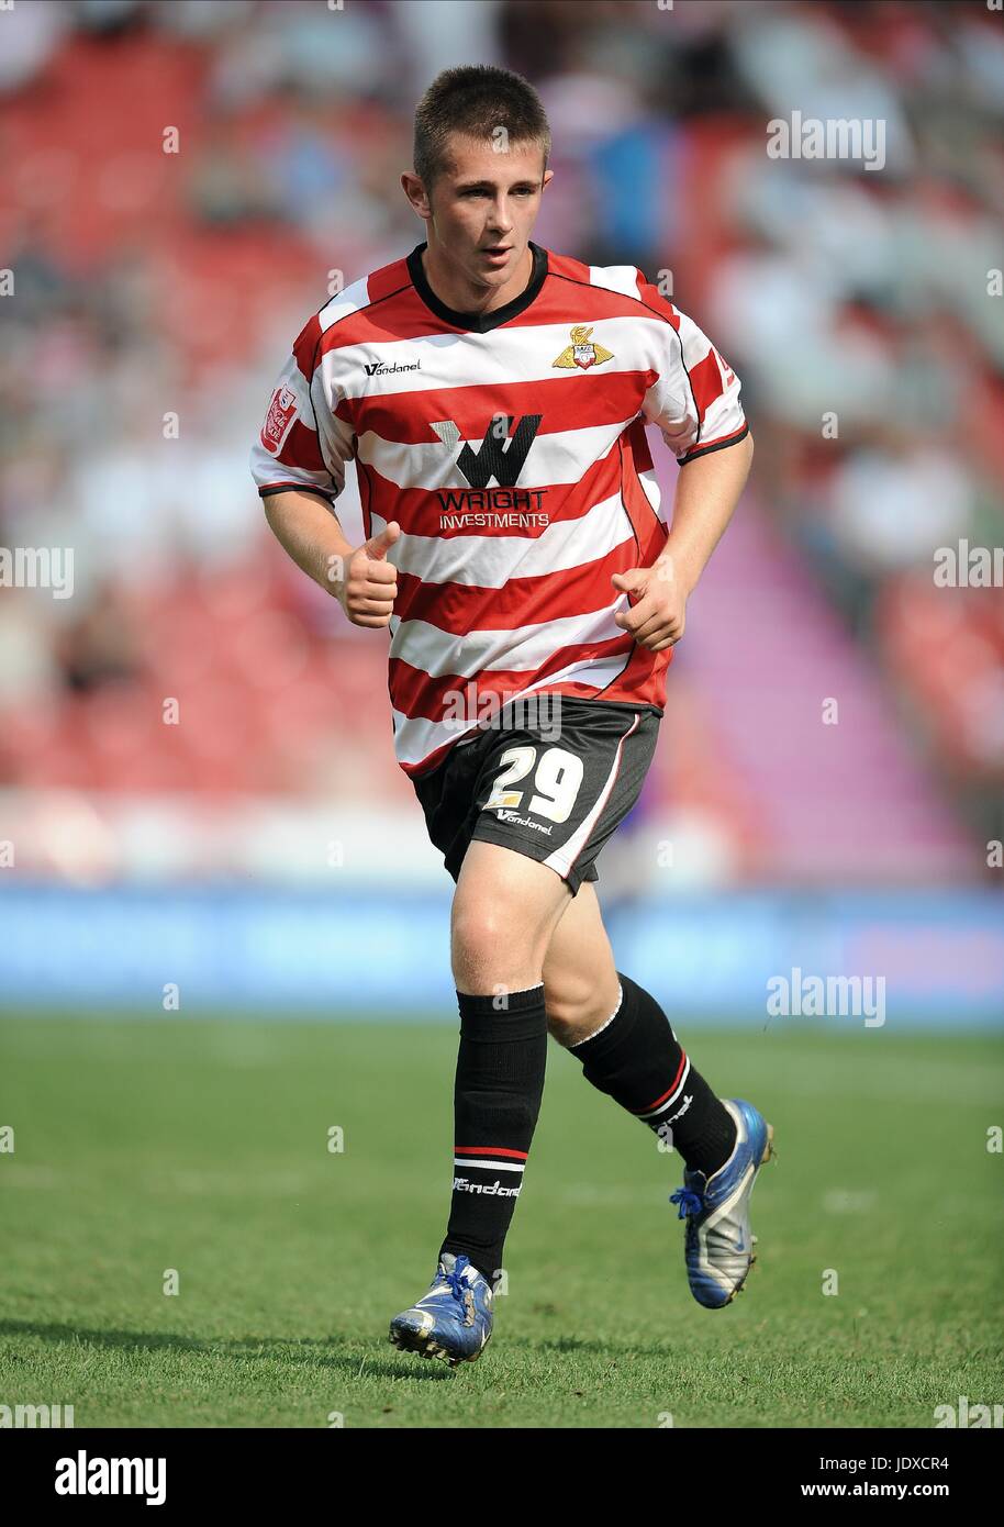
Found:
[[[616,965],[592,883],[580,887],[551,935],[543,986],[548,1026],[562,1044],[587,1038],[616,1008]]]

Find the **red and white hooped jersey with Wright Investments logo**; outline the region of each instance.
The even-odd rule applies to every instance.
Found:
[[[424,244],[346,287],[252,454],[262,496],[328,502],[354,458],[366,536],[401,527],[389,692],[410,776],[517,695],[665,704],[673,649],[615,625],[610,582],[668,534],[645,423],[681,464],[748,434],[732,370],[638,269],[529,247],[529,286],[493,313],[446,307]]]

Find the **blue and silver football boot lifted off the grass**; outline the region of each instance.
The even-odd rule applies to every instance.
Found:
[[[670,1197],[687,1219],[687,1277],[690,1292],[710,1310],[720,1310],[740,1292],[757,1260],[757,1237],[749,1231],[749,1197],[757,1173],[774,1156],[774,1125],[752,1102],[723,1098],[735,1119],[732,1154],[717,1171],[684,1171],[684,1186]]]

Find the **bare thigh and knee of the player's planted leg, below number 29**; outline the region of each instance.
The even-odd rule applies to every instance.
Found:
[[[487,991],[494,983],[519,989],[517,982],[537,985],[568,901],[565,881],[539,860],[499,843],[473,840],[464,855],[450,916],[458,989]],[[468,985],[471,979],[478,986]]]

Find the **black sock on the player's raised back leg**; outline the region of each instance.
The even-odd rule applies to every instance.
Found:
[[[735,1121],[690,1064],[665,1012],[644,986],[616,973],[621,1005],[597,1034],[569,1044],[600,1092],[671,1144],[708,1177],[735,1145]]]

